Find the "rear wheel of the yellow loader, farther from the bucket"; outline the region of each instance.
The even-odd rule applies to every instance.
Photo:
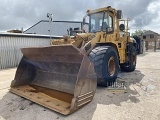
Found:
[[[132,72],[136,69],[137,52],[134,45],[129,46],[128,63],[121,64],[121,71]]]

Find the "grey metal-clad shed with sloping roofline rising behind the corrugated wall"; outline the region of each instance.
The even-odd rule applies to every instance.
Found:
[[[30,28],[24,31],[29,34],[43,34],[43,35],[67,35],[70,28],[82,29],[82,22],[80,21],[52,21],[41,20]]]

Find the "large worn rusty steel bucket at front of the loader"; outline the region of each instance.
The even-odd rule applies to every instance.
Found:
[[[10,91],[64,115],[93,99],[97,79],[88,57],[73,45],[22,48]]]

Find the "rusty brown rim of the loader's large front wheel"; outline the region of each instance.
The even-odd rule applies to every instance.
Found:
[[[113,76],[116,71],[116,63],[115,63],[114,57],[110,57],[107,67],[108,67],[109,75]]]

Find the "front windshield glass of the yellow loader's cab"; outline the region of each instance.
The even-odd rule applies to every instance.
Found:
[[[107,12],[90,14],[90,32],[106,31],[108,26]]]

